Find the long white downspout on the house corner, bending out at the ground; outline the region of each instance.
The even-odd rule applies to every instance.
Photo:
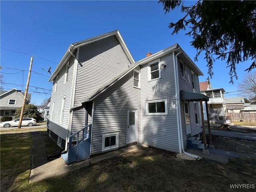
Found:
[[[190,154],[184,150],[184,141],[182,135],[182,124],[181,124],[181,110],[180,110],[180,87],[179,87],[179,76],[178,76],[178,55],[181,54],[180,47],[178,48],[179,52],[174,56],[174,52],[172,52],[174,58],[174,78],[175,78],[175,87],[176,87],[176,112],[177,112],[177,124],[178,124],[178,140],[179,140],[179,148],[180,153],[184,153],[188,156],[194,157],[197,160],[201,159],[201,157],[196,156],[194,154]]]

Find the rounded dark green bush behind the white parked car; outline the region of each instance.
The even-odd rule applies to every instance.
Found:
[[[16,112],[14,114],[14,118],[15,119],[20,118],[20,113],[21,113],[21,107],[16,110]],[[39,112],[37,110],[37,107],[35,105],[32,105],[32,104],[25,105],[23,118],[24,117],[35,118],[36,121],[38,122]]]

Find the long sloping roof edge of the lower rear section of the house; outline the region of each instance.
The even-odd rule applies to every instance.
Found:
[[[188,57],[188,55],[181,49],[181,47],[178,44],[174,44],[164,50],[161,50],[155,54],[152,54],[151,56],[148,56],[138,62],[136,62],[135,64],[129,66],[129,68],[127,68],[126,70],[124,70],[122,73],[120,73],[118,76],[114,77],[113,79],[111,79],[110,81],[108,81],[106,84],[102,85],[100,88],[98,88],[97,90],[95,90],[94,92],[92,92],[91,94],[89,94],[88,96],[86,96],[84,99],[82,99],[80,101],[80,103],[85,103],[85,102],[89,102],[92,101],[94,98],[96,98],[99,94],[101,94],[102,92],[104,92],[106,89],[108,89],[110,86],[112,86],[113,84],[115,84],[116,82],[118,82],[118,80],[120,80],[121,78],[123,78],[124,76],[126,76],[126,74],[128,74],[129,72],[131,72],[134,68],[136,68],[139,65],[143,65],[143,64],[147,64],[153,60],[156,60],[164,55],[170,54],[171,52],[175,52],[178,50],[181,51],[181,53],[183,54],[183,57],[187,57],[188,60],[190,60],[191,65],[190,67],[194,70],[194,72],[196,72],[196,74],[198,75],[203,75],[202,72],[200,71],[200,69],[196,66],[196,64],[194,64],[194,62]],[[76,108],[76,107],[73,107]]]

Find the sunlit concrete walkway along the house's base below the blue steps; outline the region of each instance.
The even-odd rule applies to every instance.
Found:
[[[39,144],[40,145],[40,144]],[[52,176],[56,176],[59,174],[63,174],[72,170],[76,170],[85,166],[88,166],[91,163],[96,163],[104,159],[112,158],[121,154],[129,153],[134,150],[138,150],[140,148],[147,147],[143,144],[137,144],[133,146],[129,146],[126,148],[121,148],[119,150],[111,151],[99,156],[94,156],[88,160],[84,160],[82,162],[78,162],[71,165],[66,165],[64,160],[60,157],[50,162],[46,162],[41,166],[32,168],[30,172],[29,182],[36,182],[46,178],[50,178]],[[32,160],[33,161],[33,160]]]

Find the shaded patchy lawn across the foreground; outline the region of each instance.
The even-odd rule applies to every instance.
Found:
[[[28,183],[30,149],[30,132],[1,134],[1,191],[240,192],[241,189],[230,189],[230,184],[256,185],[255,159],[231,158],[228,164],[206,159],[189,161],[176,158],[172,152],[150,147]]]

